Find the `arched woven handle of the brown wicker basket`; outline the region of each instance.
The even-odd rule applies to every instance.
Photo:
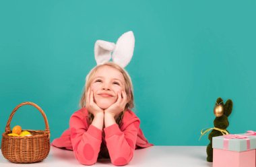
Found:
[[[22,102],[21,104],[19,104],[18,106],[16,106],[13,109],[13,111],[11,112],[11,115],[9,116],[9,119],[7,121],[7,124],[6,124],[6,127],[5,127],[5,132],[11,131],[11,129],[10,129],[11,119],[12,119],[13,115],[15,114],[15,112],[18,110],[18,108],[20,108],[21,106],[24,106],[24,105],[34,106],[34,107],[36,107],[41,112],[42,116],[44,117],[45,132],[49,133],[49,138],[50,138],[49,124],[48,124],[46,115],[44,114],[44,111],[42,110],[42,108],[40,108],[40,106],[34,104],[34,102]]]

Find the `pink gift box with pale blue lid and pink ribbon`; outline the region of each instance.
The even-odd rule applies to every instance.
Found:
[[[255,167],[256,135],[222,135],[212,138],[213,167]]]

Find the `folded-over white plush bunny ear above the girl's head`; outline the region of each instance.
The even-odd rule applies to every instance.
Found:
[[[111,59],[111,53],[114,49],[115,43],[97,40],[94,45],[94,56],[97,65],[108,62]]]

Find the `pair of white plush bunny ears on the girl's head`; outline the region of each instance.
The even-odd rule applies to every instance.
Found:
[[[117,40],[117,44],[97,40],[94,46],[94,56],[97,65],[106,63],[112,58],[114,63],[126,67],[133,57],[135,38],[133,32],[125,32]]]

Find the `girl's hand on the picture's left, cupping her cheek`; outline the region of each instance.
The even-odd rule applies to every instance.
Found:
[[[104,110],[102,110],[94,102],[94,92],[91,90],[91,88],[88,88],[88,92],[86,94],[86,109],[88,110],[88,112],[91,112],[94,116],[104,114]]]

